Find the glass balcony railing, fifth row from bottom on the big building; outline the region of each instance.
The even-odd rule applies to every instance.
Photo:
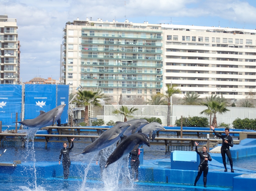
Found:
[[[65,57],[65,56],[64,56]],[[122,55],[98,55],[98,54],[82,54],[81,58],[99,58],[99,59],[131,59],[131,60],[162,60],[159,56],[122,56]]]

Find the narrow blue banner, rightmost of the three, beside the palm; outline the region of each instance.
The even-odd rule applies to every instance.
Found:
[[[61,124],[68,123],[69,85],[57,85],[57,106],[66,104],[61,115]]]

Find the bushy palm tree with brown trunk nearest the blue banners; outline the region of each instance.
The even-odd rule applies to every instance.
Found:
[[[87,125],[89,125],[88,106],[93,105],[102,107],[99,100],[101,99],[101,96],[97,95],[97,92],[93,92],[91,90],[78,90],[77,94],[78,95],[76,97],[76,100],[74,100],[73,102],[77,103],[78,105],[84,106],[84,122],[86,122]]]

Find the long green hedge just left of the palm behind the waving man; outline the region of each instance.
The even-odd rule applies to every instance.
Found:
[[[180,119],[177,119],[175,121],[175,125],[180,127]],[[182,120],[182,126],[183,127],[209,127],[209,122],[208,119],[206,117],[183,117]]]

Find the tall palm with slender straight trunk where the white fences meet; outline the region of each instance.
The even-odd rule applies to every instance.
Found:
[[[168,101],[168,106],[167,106],[167,126],[169,126],[171,124],[171,116],[170,116],[170,113],[171,113],[171,99],[172,99],[172,96],[173,94],[180,94],[181,91],[179,88],[176,88],[177,85],[176,84],[168,84],[167,85],[167,91],[166,91],[166,94],[161,94],[162,96],[166,97],[167,98],[167,101]]]

